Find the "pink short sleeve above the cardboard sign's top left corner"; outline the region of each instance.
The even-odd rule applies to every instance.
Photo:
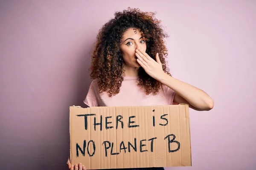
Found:
[[[99,106],[99,103],[98,103],[98,86],[97,86],[96,79],[94,79],[90,84],[87,96],[84,99],[84,104],[86,104],[89,107]]]

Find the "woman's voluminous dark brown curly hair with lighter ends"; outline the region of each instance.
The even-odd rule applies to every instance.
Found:
[[[122,35],[128,28],[140,28],[146,40],[145,52],[154,60],[159,53],[163,71],[171,76],[166,67],[165,57],[168,53],[163,40],[168,35],[161,28],[161,21],[155,19],[155,13],[128,8],[122,12],[115,12],[114,15],[115,17],[99,30],[91,56],[90,77],[98,80],[99,93],[107,91],[109,96],[113,96],[120,91],[124,80],[120,43]],[[162,84],[150,77],[142,67],[139,68],[138,74],[138,85],[144,88],[145,93],[157,94]]]

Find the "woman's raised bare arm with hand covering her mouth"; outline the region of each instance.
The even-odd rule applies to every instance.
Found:
[[[197,111],[209,111],[213,108],[214,102],[207,93],[164,73],[158,53],[155,61],[144,51],[136,50],[135,52],[135,55],[138,57],[137,62],[148,75],[176,92],[175,103],[188,104],[190,108]]]

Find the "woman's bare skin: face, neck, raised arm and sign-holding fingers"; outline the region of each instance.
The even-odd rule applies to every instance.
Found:
[[[163,71],[162,64],[157,53],[156,60],[152,59],[146,51],[146,42],[140,33],[140,29],[128,28],[122,36],[120,51],[124,60],[125,76],[138,76],[138,70],[143,67],[145,72],[152,78],[163,83],[176,92],[173,102],[188,104],[196,111],[209,111],[214,106],[212,98],[195,86],[175,79]],[[70,159],[67,161],[70,170],[85,170],[85,166],[71,165]],[[73,168],[73,169],[72,169]]]

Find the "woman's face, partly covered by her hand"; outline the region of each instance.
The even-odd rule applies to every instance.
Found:
[[[128,28],[122,36],[120,50],[123,61],[128,67],[140,67],[135,56],[135,50],[146,51],[146,42],[138,28]]]

